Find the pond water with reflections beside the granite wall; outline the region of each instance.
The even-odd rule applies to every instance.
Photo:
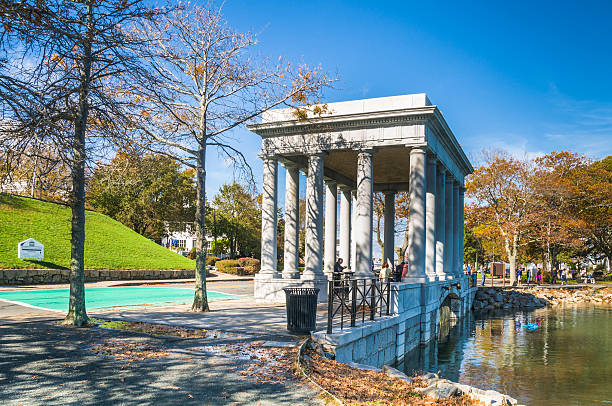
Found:
[[[537,325],[535,331],[525,325]],[[610,404],[612,308],[470,316],[439,342],[406,354],[404,369],[507,393],[528,405]]]

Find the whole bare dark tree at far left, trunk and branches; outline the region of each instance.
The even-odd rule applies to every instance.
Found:
[[[141,0],[5,0],[0,144],[13,153],[39,140],[57,146],[71,168],[70,302],[65,322],[89,323],[85,309],[85,167],[123,117],[117,92],[139,68],[142,45],[130,27],[156,11]],[[88,154],[89,152],[89,154]]]

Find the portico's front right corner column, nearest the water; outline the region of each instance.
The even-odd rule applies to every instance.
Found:
[[[425,151],[410,150],[410,217],[408,278],[425,281]]]

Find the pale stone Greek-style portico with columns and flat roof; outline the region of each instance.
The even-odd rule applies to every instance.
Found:
[[[394,197],[410,194],[404,281],[446,281],[462,275],[463,185],[473,168],[425,94],[330,103],[325,114],[300,121],[292,109],[272,110],[249,129],[262,138],[264,160],[258,301],[283,302],[282,288],[287,286],[319,287],[319,300],[325,301],[328,275],[338,257],[356,278],[372,276],[373,194],[378,191],[385,194],[383,255],[391,260]],[[282,274],[276,267],[279,163],[286,170]],[[298,171],[307,179],[301,276]]]

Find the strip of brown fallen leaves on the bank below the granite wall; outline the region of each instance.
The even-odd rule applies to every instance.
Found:
[[[408,383],[391,378],[383,372],[353,368],[312,351],[305,358],[305,364],[310,378],[345,405],[472,406],[478,404],[467,396],[437,400],[424,397],[414,390],[427,386],[418,377],[413,378],[412,383]]]

